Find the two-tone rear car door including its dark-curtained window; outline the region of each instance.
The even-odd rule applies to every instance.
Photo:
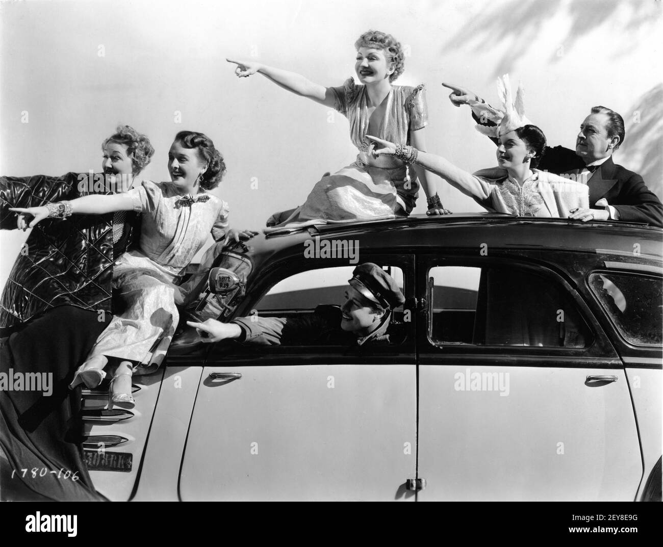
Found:
[[[623,363],[573,280],[496,251],[417,271],[418,500],[633,500]]]

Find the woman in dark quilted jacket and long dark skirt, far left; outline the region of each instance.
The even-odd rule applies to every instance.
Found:
[[[121,126],[101,148],[102,173],[1,177],[0,228],[27,228],[26,218],[9,208],[141,185],[140,174],[154,154],[145,135]],[[80,447],[80,390],[70,392],[67,385],[111,320],[113,263],[134,235],[137,239],[139,223],[133,212],[46,221],[32,229],[21,249],[0,298],[0,371],[8,378],[52,376],[43,391],[7,391],[0,397],[3,499],[103,499]],[[19,470],[26,468],[56,473],[23,477]],[[66,471],[69,479],[58,478]]]

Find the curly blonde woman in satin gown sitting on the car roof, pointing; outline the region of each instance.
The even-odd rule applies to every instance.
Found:
[[[368,133],[373,133],[425,149],[428,109],[424,85],[415,88],[392,85],[404,70],[404,54],[400,43],[390,34],[369,30],[360,36],[355,48],[355,71],[361,84],[349,78],[336,88],[325,88],[299,74],[256,62],[228,60],[237,64],[237,76],[263,74],[288,91],[335,108],[347,117],[351,141],[359,151],[353,163],[324,176],[302,206],[272,215],[267,232],[284,225],[298,227],[407,216],[416,205],[420,186],[428,198],[429,214],[448,213],[426,170],[412,168],[397,158],[373,156],[366,139]]]

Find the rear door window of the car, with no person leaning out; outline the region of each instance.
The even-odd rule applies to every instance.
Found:
[[[559,282],[518,267],[433,267],[436,343],[586,347],[591,333]]]

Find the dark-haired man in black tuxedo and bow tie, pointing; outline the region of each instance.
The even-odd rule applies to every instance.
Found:
[[[453,105],[485,103],[467,88],[442,84],[450,88]],[[491,121],[473,117],[480,125]],[[593,107],[580,124],[575,151],[562,147],[546,147],[538,169],[563,176],[572,176],[589,186],[589,209],[572,213],[572,219],[620,220],[642,222],[663,227],[663,204],[642,180],[642,177],[613,162],[612,154],[624,142],[624,120],[617,112]]]

